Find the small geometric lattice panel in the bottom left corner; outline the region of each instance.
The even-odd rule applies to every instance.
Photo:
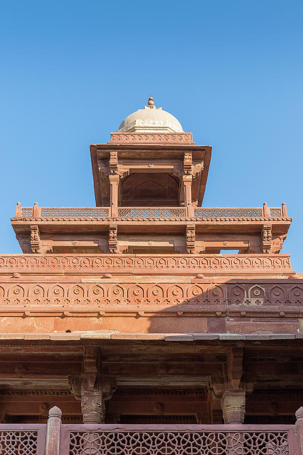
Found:
[[[36,455],[37,431],[1,431],[1,455]]]

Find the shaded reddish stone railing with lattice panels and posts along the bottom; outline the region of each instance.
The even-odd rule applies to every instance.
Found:
[[[46,424],[0,425],[3,453],[303,455],[302,407],[294,425],[62,425],[61,415],[56,406],[49,411],[46,439]]]

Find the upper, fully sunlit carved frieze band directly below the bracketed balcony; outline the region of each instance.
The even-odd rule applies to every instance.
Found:
[[[75,270],[128,271],[128,270],[178,271],[189,274],[236,274],[249,272],[251,275],[293,275],[288,254],[235,254],[235,255],[135,255],[135,254],[47,254],[47,255],[2,255],[0,272],[3,271],[50,271]]]

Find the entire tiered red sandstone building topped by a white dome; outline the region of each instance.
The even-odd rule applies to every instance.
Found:
[[[0,256],[0,431],[43,433],[51,410],[48,435],[61,411],[70,432],[62,455],[295,455],[300,437],[303,453],[303,276],[280,253],[286,205],[203,207],[212,147],[152,98],[90,152],[96,207],[18,203],[12,217],[23,253]],[[144,434],[110,449],[72,432],[82,423]],[[36,453],[1,434],[0,453]]]

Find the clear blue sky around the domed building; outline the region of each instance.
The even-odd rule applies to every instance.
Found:
[[[303,3],[2,1],[0,252],[23,206],[93,206],[90,143],[152,94],[213,146],[206,206],[287,203],[303,271]]]

